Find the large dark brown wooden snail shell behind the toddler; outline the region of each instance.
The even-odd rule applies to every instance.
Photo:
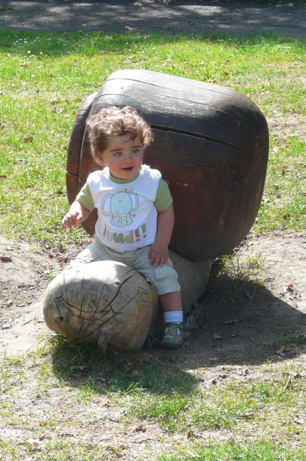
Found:
[[[259,108],[229,88],[143,70],[112,74],[90,115],[112,105],[135,107],[153,128],[145,163],[161,171],[174,199],[170,248],[204,261],[237,246],[255,221],[266,177],[268,126]],[[78,168],[79,190],[98,169],[86,129],[77,148],[67,169],[70,202],[76,197],[72,171]],[[90,235],[95,220],[92,214],[82,224]]]

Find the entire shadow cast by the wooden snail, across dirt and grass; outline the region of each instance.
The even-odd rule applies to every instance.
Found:
[[[183,349],[101,356],[95,347],[54,336],[53,370],[69,385],[102,393],[141,386],[156,394],[188,394],[197,383],[189,370],[261,366],[305,353],[306,315],[286,301],[292,294],[281,299],[252,283],[244,285],[244,293],[237,289],[237,307],[214,306],[209,312],[203,307],[199,327],[185,338]]]

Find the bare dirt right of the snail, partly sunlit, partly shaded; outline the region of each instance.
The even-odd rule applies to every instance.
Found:
[[[303,338],[306,334],[305,251],[302,234],[250,234],[236,256],[260,253],[265,258],[260,279],[245,285],[236,307],[221,310],[214,306],[204,313],[203,328],[200,325],[186,338],[184,349],[175,353],[177,360],[192,370],[205,367],[207,373],[225,367],[236,378],[237,368],[243,371],[252,366],[254,373],[267,361],[302,357],[303,345],[280,344],[289,335]]]

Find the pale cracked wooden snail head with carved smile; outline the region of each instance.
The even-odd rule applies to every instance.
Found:
[[[69,338],[139,350],[158,296],[134,269],[114,261],[72,267],[49,284],[43,301],[47,326]],[[158,307],[155,307],[157,310]]]

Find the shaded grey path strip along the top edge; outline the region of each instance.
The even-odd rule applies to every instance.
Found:
[[[281,3],[281,2],[278,2]],[[0,28],[24,31],[163,34],[277,33],[306,36],[302,3],[156,0],[3,0]],[[290,6],[291,5],[291,6]],[[132,30],[133,32],[133,30]]]

